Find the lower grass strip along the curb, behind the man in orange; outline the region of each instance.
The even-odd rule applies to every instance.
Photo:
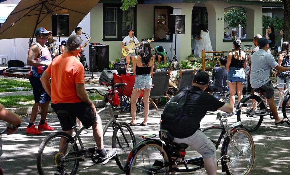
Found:
[[[90,96],[90,95],[96,96]],[[100,96],[98,93],[89,94],[89,98],[93,100],[103,100],[104,97]],[[16,102],[27,102],[26,105],[17,104]],[[0,98],[0,103],[4,105],[6,108],[18,107],[18,106],[32,106],[34,104],[33,95],[30,96],[4,96]]]

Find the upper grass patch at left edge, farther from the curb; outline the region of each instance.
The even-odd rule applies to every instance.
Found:
[[[2,87],[3,86],[3,87]],[[29,89],[8,89],[8,88],[17,88],[17,87],[24,87]],[[28,91],[32,90],[31,84],[29,81],[21,81],[16,79],[0,79],[0,92],[14,92],[14,91]]]

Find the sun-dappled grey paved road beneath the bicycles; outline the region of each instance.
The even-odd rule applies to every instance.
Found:
[[[148,126],[135,126],[133,127],[134,134],[137,141],[141,140],[142,134],[158,134],[160,114],[163,111],[161,107],[159,111],[150,108],[150,114],[148,119]],[[120,121],[130,122],[130,113],[125,112],[120,115]],[[108,121],[109,115],[105,112],[102,116],[103,125]],[[37,122],[39,122],[37,118]],[[206,115],[201,121],[201,128],[205,128],[211,125],[219,125],[217,120],[214,120],[214,115]],[[5,174],[22,175],[22,174],[37,174],[36,155],[41,141],[51,131],[45,131],[42,135],[28,135],[25,134],[25,126],[27,126],[29,117],[23,118],[23,124],[17,134],[3,135],[3,155],[1,157],[1,165],[5,170]],[[137,122],[143,121],[143,114],[137,115]],[[60,124],[55,114],[50,114],[47,117],[47,122],[55,127],[55,131],[60,131]],[[236,122],[236,117],[229,118],[229,123]],[[290,127],[287,124],[275,126],[274,120],[266,117],[261,127],[252,132],[252,136],[256,147],[256,157],[254,167],[251,174],[289,174],[290,172]],[[0,126],[3,126],[0,123]],[[4,127],[2,127],[4,128]],[[2,129],[0,128],[0,129]],[[85,146],[95,146],[92,141],[92,129],[88,129],[88,134],[82,135],[82,141]],[[210,133],[211,136],[218,136],[219,133]],[[105,147],[111,147],[112,129],[109,129],[105,134]],[[221,142],[222,143],[222,142]],[[219,147],[220,149],[220,147]],[[190,149],[187,150],[187,156],[198,156],[198,153]],[[220,154],[218,150],[217,155]],[[92,165],[92,162],[88,159],[81,162],[79,170]],[[287,168],[288,167],[288,168]],[[201,172],[199,170],[198,172]],[[104,166],[95,165],[89,167],[86,170],[81,170],[78,174],[124,174],[112,160]],[[201,174],[206,174],[205,171]],[[218,166],[218,174],[224,174],[221,172],[221,165]]]

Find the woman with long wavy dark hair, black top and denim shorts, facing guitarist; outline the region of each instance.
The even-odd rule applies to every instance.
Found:
[[[131,115],[132,121],[130,126],[137,125],[136,122],[136,101],[143,91],[144,103],[144,120],[141,126],[147,126],[147,118],[149,115],[149,96],[152,88],[152,79],[150,74],[153,72],[154,61],[151,55],[151,47],[147,41],[142,41],[139,48],[139,55],[133,60],[133,73],[136,75],[133,92],[131,95]]]

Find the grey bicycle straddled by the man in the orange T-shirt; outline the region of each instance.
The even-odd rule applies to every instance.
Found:
[[[112,98],[112,92],[114,92],[114,89],[121,86],[126,86],[126,83],[115,84],[112,87],[113,90],[105,95],[97,89],[86,90],[88,92],[96,91],[105,98],[106,107],[100,109],[97,114],[100,114],[105,110],[108,110],[110,113],[111,119],[103,128],[103,132],[105,135],[108,127],[112,126],[114,130],[112,147],[117,148],[118,151],[118,154],[115,156],[115,160],[120,169],[123,170],[127,156],[136,144],[136,139],[132,129],[126,122],[117,122],[118,115],[114,115],[111,105],[108,102]],[[69,113],[65,110],[57,111],[57,115],[60,115],[61,117],[70,117]],[[37,170],[39,174],[54,174],[57,167],[63,168],[63,174],[76,174],[79,167],[79,161],[83,161],[85,158],[90,158],[95,164],[99,163],[98,154],[96,154],[97,147],[85,148],[80,138],[80,133],[85,127],[83,126],[79,131],[77,131],[76,121],[71,118],[71,122],[75,124],[73,130],[76,134],[74,136],[71,136],[63,131],[53,132],[41,142],[37,153]],[[66,140],[63,148],[60,148],[61,138],[65,138]],[[79,141],[80,147],[76,143],[77,141]],[[86,168],[88,167],[85,167],[84,169]]]

